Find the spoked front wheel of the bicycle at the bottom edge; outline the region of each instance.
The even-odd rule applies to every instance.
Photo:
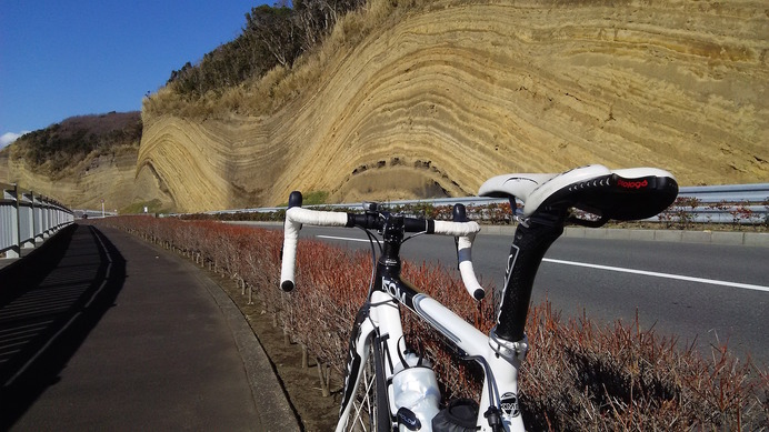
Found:
[[[392,420],[387,402],[383,359],[381,345],[377,339],[369,345],[369,355],[366,363],[361,365],[360,373],[360,381],[350,402],[352,409],[343,430],[350,432],[391,432]]]

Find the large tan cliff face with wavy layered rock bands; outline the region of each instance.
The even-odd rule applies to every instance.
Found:
[[[765,1],[435,1],[268,117],[143,118],[180,210],[475,194],[507,172],[653,165],[769,181]]]

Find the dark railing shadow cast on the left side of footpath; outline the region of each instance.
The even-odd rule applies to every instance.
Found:
[[[59,381],[124,279],[120,252],[82,224],[0,270],[0,430]]]

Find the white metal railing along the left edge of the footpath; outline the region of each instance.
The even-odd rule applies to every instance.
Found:
[[[0,255],[19,258],[64,225],[74,215],[63,204],[17,184],[0,183]]]

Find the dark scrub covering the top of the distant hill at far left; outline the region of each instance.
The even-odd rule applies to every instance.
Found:
[[[99,155],[138,152],[141,129],[138,111],[71,117],[22,135],[9,151],[12,159],[23,159],[36,173],[57,179]]]

